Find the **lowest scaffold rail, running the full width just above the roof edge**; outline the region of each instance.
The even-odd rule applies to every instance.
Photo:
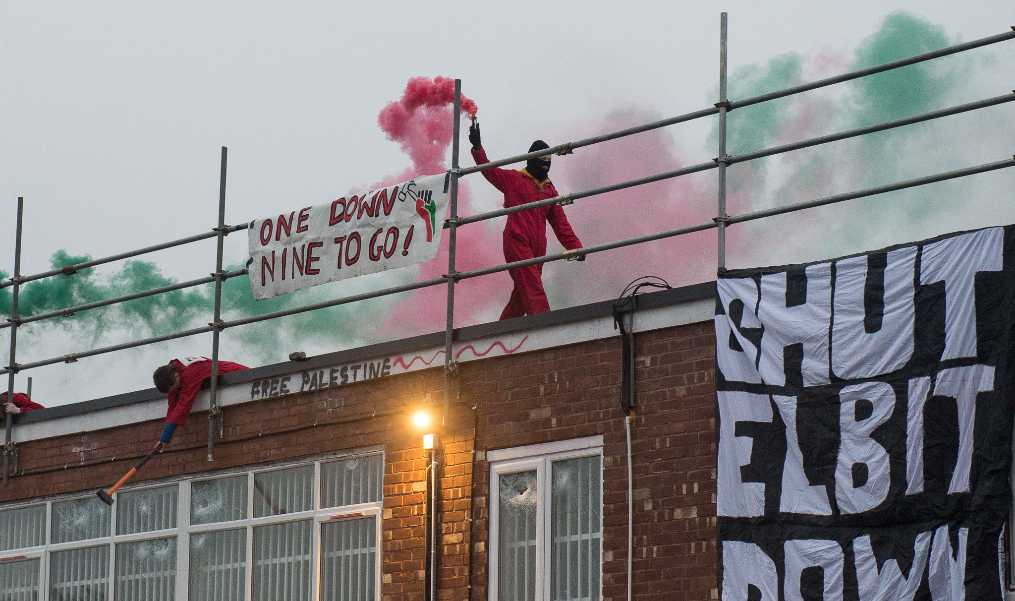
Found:
[[[1012,158],[1005,159],[1005,160],[999,160],[997,162],[989,162],[989,163],[979,164],[979,165],[970,166],[970,168],[965,168],[965,169],[956,170],[956,171],[952,171],[952,172],[946,172],[946,173],[938,174],[938,175],[935,175],[935,176],[928,176],[928,177],[925,177],[925,178],[917,178],[915,180],[906,180],[904,182],[896,182],[894,184],[888,184],[888,185],[885,185],[885,186],[878,186],[876,188],[867,188],[865,190],[860,190],[860,191],[857,191],[857,192],[849,192],[849,193],[839,194],[839,195],[836,195],[836,196],[828,196],[828,197],[825,197],[825,198],[819,198],[817,200],[800,202],[800,203],[791,204],[791,205],[787,205],[787,206],[783,206],[783,207],[776,207],[776,208],[773,208],[773,209],[766,209],[766,210],[763,210],[763,211],[755,211],[755,212],[752,212],[752,213],[744,213],[742,215],[736,215],[736,216],[729,217],[729,221],[730,221],[730,223],[740,223],[740,222],[743,222],[743,221],[750,221],[752,219],[760,219],[761,217],[768,217],[768,216],[771,216],[771,215],[779,215],[779,214],[782,214],[782,213],[789,213],[789,212],[793,212],[793,211],[799,211],[799,210],[813,208],[813,207],[817,207],[817,206],[823,206],[823,205],[833,204],[833,203],[836,203],[836,202],[842,202],[842,201],[845,201],[845,200],[853,200],[853,199],[856,199],[856,198],[863,198],[863,197],[866,197],[866,196],[874,196],[874,195],[882,194],[882,193],[885,193],[885,192],[892,192],[892,191],[895,191],[895,190],[902,190],[904,188],[912,188],[912,187],[916,187],[916,186],[923,186],[925,184],[933,184],[935,182],[942,182],[942,181],[945,181],[945,180],[952,180],[952,179],[955,179],[955,178],[961,178],[961,177],[964,177],[964,176],[971,176],[971,175],[974,175],[974,174],[982,174],[982,173],[985,173],[985,172],[991,172],[991,171],[995,171],[995,170],[999,170],[999,169],[1005,169],[1005,168],[1010,168],[1010,166],[1015,166],[1015,156],[1013,156]],[[318,309],[326,309],[328,307],[337,307],[339,305],[346,305],[346,304],[349,304],[349,303],[355,303],[357,300],[366,300],[368,298],[376,298],[376,297],[379,297],[379,296],[386,296],[388,294],[396,294],[396,293],[399,293],[399,292],[406,292],[406,291],[409,291],[409,290],[415,290],[415,289],[419,289],[419,288],[425,288],[425,287],[429,287],[429,286],[434,286],[434,285],[446,283],[452,277],[454,277],[457,280],[469,279],[469,278],[473,278],[473,277],[479,277],[481,275],[488,275],[488,274],[497,273],[497,272],[500,272],[500,271],[507,271],[509,269],[515,269],[517,267],[525,267],[525,266],[528,266],[528,265],[537,265],[539,263],[550,263],[552,261],[560,261],[561,259],[573,258],[573,257],[576,257],[578,255],[591,255],[593,253],[601,253],[603,251],[609,251],[609,250],[613,250],[613,249],[619,249],[619,248],[622,248],[622,247],[629,247],[629,246],[633,246],[633,245],[637,245],[637,244],[641,244],[641,243],[646,243],[646,242],[652,242],[652,241],[655,241],[655,240],[662,240],[664,238],[673,238],[675,236],[680,236],[680,235],[683,235],[683,233],[691,233],[691,232],[694,232],[694,231],[702,231],[702,230],[705,230],[705,229],[712,229],[714,227],[718,227],[718,223],[716,221],[710,221],[710,222],[707,222],[707,223],[697,223],[697,224],[694,224],[694,225],[685,225],[683,227],[677,227],[676,229],[669,229],[669,230],[666,230],[666,231],[657,231],[655,233],[649,233],[649,235],[646,235],[646,236],[638,236],[638,237],[635,237],[635,238],[628,238],[628,239],[619,240],[619,241],[616,241],[616,242],[610,242],[610,243],[605,243],[605,244],[601,244],[601,245],[595,245],[595,246],[591,246],[591,247],[586,247],[584,249],[580,249],[581,253],[578,253],[576,251],[566,251],[566,252],[563,252],[563,253],[554,253],[554,254],[551,254],[551,255],[545,255],[543,257],[536,257],[534,259],[526,259],[524,261],[515,261],[514,263],[505,263],[505,264],[497,265],[497,266],[494,266],[494,267],[485,267],[483,269],[475,269],[473,271],[464,271],[464,272],[460,272],[460,273],[456,273],[456,274],[452,274],[452,275],[445,275],[444,277],[438,277],[438,278],[433,278],[433,279],[427,279],[427,280],[423,280],[423,281],[419,281],[419,282],[413,282],[413,283],[410,283],[410,284],[404,284],[404,285],[401,285],[401,286],[395,286],[395,287],[392,287],[392,288],[384,288],[382,290],[376,290],[376,291],[373,291],[373,292],[363,292],[361,294],[353,294],[351,296],[345,296],[345,297],[342,297],[342,298],[336,298],[334,300],[327,300],[327,302],[324,302],[324,303],[317,303],[317,304],[314,304],[314,305],[307,305],[304,307],[297,307],[297,308],[294,308],[294,309],[287,309],[285,311],[278,311],[278,312],[275,312],[275,313],[268,313],[268,314],[265,314],[265,315],[259,315],[259,316],[254,316],[254,317],[243,318],[243,319],[239,319],[239,320],[224,322],[224,323],[221,324],[221,328],[224,329],[224,328],[230,328],[230,327],[235,327],[235,326],[243,326],[243,325],[253,324],[253,323],[257,323],[257,322],[263,322],[263,321],[267,321],[267,320],[271,320],[271,319],[275,319],[275,318],[279,318],[279,317],[285,317],[285,316],[289,316],[289,315],[296,315],[296,314],[299,314],[299,313],[307,313],[309,311],[316,311]],[[41,368],[43,365],[50,365],[50,364],[53,364],[53,363],[72,362],[72,361],[75,361],[75,360],[77,360],[79,358],[86,357],[86,356],[93,356],[93,355],[96,355],[96,354],[103,354],[103,353],[113,352],[113,351],[117,351],[117,350],[124,350],[124,349],[127,349],[127,348],[133,348],[133,347],[136,347],[136,346],[144,346],[146,344],[153,344],[153,343],[156,343],[156,342],[164,342],[166,340],[174,340],[174,339],[177,339],[177,338],[185,338],[187,336],[194,336],[194,335],[197,335],[197,334],[204,334],[206,332],[211,332],[212,330],[214,330],[213,327],[206,326],[206,327],[203,327],[203,328],[195,328],[193,330],[187,330],[187,331],[184,331],[184,332],[179,332],[177,334],[167,334],[165,336],[157,336],[155,338],[146,338],[146,339],[143,339],[143,340],[138,340],[136,342],[127,342],[127,343],[124,343],[124,344],[117,344],[117,345],[114,345],[114,346],[107,346],[105,348],[96,348],[96,349],[93,349],[93,350],[83,351],[83,352],[79,352],[79,353],[67,354],[67,355],[63,355],[63,356],[59,356],[59,357],[54,357],[54,358],[51,358],[51,359],[44,359],[44,360],[41,360],[41,361],[33,361],[33,362],[30,362],[30,363],[20,364],[20,365],[17,365],[17,371],[29,370],[29,369],[32,369],[32,368]],[[2,374],[8,374],[9,372],[10,372],[10,369],[9,368],[5,368],[5,369],[0,370],[0,375],[2,375]]]

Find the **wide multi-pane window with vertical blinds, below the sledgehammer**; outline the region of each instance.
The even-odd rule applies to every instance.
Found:
[[[376,601],[384,456],[0,507],[0,601]]]

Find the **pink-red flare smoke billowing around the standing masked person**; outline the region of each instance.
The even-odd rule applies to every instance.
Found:
[[[819,67],[819,70],[820,67]],[[397,142],[411,159],[402,173],[389,176],[371,188],[391,185],[420,175],[445,172],[450,166],[448,147],[452,134],[454,80],[445,77],[409,80],[402,97],[381,111],[378,122],[388,139]],[[463,115],[474,115],[476,105],[463,97]],[[796,107],[792,118],[780,124],[780,141],[812,134],[820,120],[811,104]],[[576,123],[568,131],[554,132],[563,139],[580,139],[598,132],[616,131],[660,119],[654,111],[630,108],[608,114],[596,124]],[[464,124],[463,124],[464,125]],[[464,129],[464,127],[463,127]],[[653,130],[610,142],[581,148],[554,160],[554,183],[560,192],[581,191],[704,162],[714,154],[700,154],[697,144],[688,145],[672,128]],[[464,138],[464,132],[463,132]],[[696,142],[696,141],[695,141]],[[469,164],[468,145],[462,145],[460,162]],[[707,152],[707,150],[706,150]],[[496,157],[492,157],[496,158]],[[790,160],[794,164],[798,157]],[[507,168],[510,169],[510,168]],[[764,170],[738,164],[739,189],[728,193],[728,212],[739,214],[752,206],[756,187],[763,184]],[[460,182],[459,214],[481,212],[473,206],[469,186],[488,186],[480,176]],[[580,199],[566,207],[576,233],[585,246],[633,238],[684,225],[708,222],[716,216],[716,176],[702,173]],[[801,222],[812,219],[801,216]],[[456,269],[468,271],[503,263],[500,231],[503,218],[471,223],[458,229]],[[751,229],[728,229],[728,253],[750,247]],[[746,237],[746,239],[745,239]],[[447,240],[447,233],[445,239]],[[548,232],[548,252],[560,250]],[[743,244],[747,243],[747,244]],[[589,256],[584,263],[554,262],[544,267],[543,281],[554,309],[614,298],[624,286],[642,275],[663,277],[673,286],[716,278],[716,231],[705,230]],[[731,265],[737,267],[737,265]],[[419,267],[416,279],[439,277],[448,271],[448,243],[442,242],[437,258]],[[456,288],[455,323],[465,326],[495,320],[512,288],[505,272],[464,280]],[[447,288],[432,286],[401,299],[389,314],[387,335],[411,335],[441,329],[445,324]]]

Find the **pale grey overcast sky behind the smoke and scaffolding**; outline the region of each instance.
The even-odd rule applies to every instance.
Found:
[[[817,74],[825,76],[849,69],[848,60],[836,68],[834,57],[852,57],[899,9],[942,27],[951,42],[1015,25],[1011,0],[6,0],[0,2],[0,270],[9,273],[13,267],[18,196],[25,198],[22,272],[35,273],[48,269],[59,250],[101,257],[213,226],[221,146],[229,148],[228,223],[326,202],[401,172],[409,160],[385,139],[377,117],[413,76],[462,79],[463,92],[479,106],[490,154],[503,156],[524,151],[535,138],[552,145],[607,131],[610,122],[603,116],[616,111],[664,117],[710,106],[723,10],[729,12],[731,74],[798,53],[808,65],[823,65],[824,72]],[[974,52],[980,53],[976,78],[968,86],[974,91],[952,104],[1012,88],[1015,42]],[[805,69],[805,77],[810,72]],[[998,131],[1007,132],[1004,143],[990,143],[992,151],[1007,147],[1010,155],[1015,106],[990,111],[992,119],[1006,124]],[[835,117],[841,116],[829,120],[841,121]],[[701,120],[669,134],[687,153],[688,163],[715,156],[708,138],[713,126]],[[990,137],[991,128],[977,127]],[[953,166],[947,169],[958,169],[986,162],[975,156],[982,146],[966,140],[951,152],[928,152],[934,153],[935,165],[950,154],[946,158]],[[561,160],[578,164],[581,152]],[[471,160],[466,156],[463,163]],[[927,174],[910,177],[917,175]],[[992,189],[1015,186],[1011,174],[985,177],[994,178]],[[703,186],[713,181],[702,180]],[[495,192],[485,183],[477,179],[471,189],[479,206],[496,204]],[[822,190],[816,196],[845,191]],[[982,215],[977,221],[957,227],[939,222],[898,236],[1015,220],[1010,195],[996,202],[997,207],[976,213]],[[580,212],[579,207],[568,207],[568,214]],[[884,229],[883,223],[854,226]],[[888,231],[861,244],[908,240],[892,236]],[[227,242],[227,262],[245,261],[245,236]],[[608,240],[586,240],[601,242]],[[213,243],[197,244],[146,259],[167,276],[192,279],[213,270]],[[860,250],[865,249],[842,252]],[[804,251],[759,257],[783,262],[825,258]],[[747,266],[749,260],[742,263],[734,266]],[[499,306],[493,308],[494,318],[498,312]],[[4,333],[4,346],[6,340]],[[207,341],[199,340],[202,347],[192,352],[209,353]],[[26,344],[30,352],[19,353],[19,361],[80,350]],[[342,346],[318,343],[314,350]],[[37,390],[46,391],[44,403],[76,402],[149,386],[150,363],[161,362],[158,352],[189,354],[186,344],[166,348],[25,375],[41,381]]]

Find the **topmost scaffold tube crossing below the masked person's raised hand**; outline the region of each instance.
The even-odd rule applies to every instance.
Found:
[[[906,67],[908,65],[913,65],[916,63],[922,63],[924,61],[929,61],[932,59],[940,58],[943,56],[948,56],[950,54],[956,54],[959,52],[964,52],[966,50],[972,50],[974,48],[980,48],[983,46],[990,46],[991,44],[997,44],[999,42],[1005,42],[1006,40],[1015,39],[1015,27],[1011,31],[1005,31],[1004,34],[998,34],[997,36],[990,36],[988,38],[980,38],[979,40],[973,40],[971,42],[965,42],[963,44],[958,44],[956,46],[949,46],[948,48],[942,48],[941,50],[935,50],[933,52],[927,52],[924,54],[918,54],[905,59],[900,59],[897,61],[891,61],[889,63],[884,63],[882,65],[876,65],[874,67],[869,67],[867,69],[860,69],[858,71],[851,71],[849,73],[843,73],[841,75],[835,75],[832,77],[826,77],[825,79],[819,79],[817,81],[812,81],[810,83],[804,83],[794,87],[788,87],[786,89],[764,93],[757,96],[751,96],[749,98],[744,98],[742,101],[731,102],[728,111],[734,109],[740,109],[743,107],[749,107],[751,105],[757,105],[759,103],[764,103],[767,101],[773,101],[775,98],[782,98],[793,94],[798,94],[805,91],[810,91],[812,89],[817,89],[819,87],[826,87],[828,85],[834,85],[835,83],[841,83],[843,81],[850,81],[852,79],[858,79],[860,77],[866,77],[867,75],[873,75],[875,73],[881,73],[884,71],[890,71],[892,69],[898,69],[899,67]],[[584,140],[579,140],[577,142],[567,142],[564,144],[558,144],[552,146],[545,150],[536,150],[535,152],[526,152],[525,154],[518,154],[516,156],[509,156],[507,158],[500,158],[497,160],[491,160],[490,162],[484,162],[483,164],[478,164],[476,166],[464,168],[461,170],[461,175],[465,176],[468,174],[474,174],[476,172],[485,171],[488,169],[493,169],[496,166],[503,166],[505,164],[512,164],[514,162],[522,162],[523,160],[528,160],[529,158],[535,158],[537,156],[546,156],[547,154],[566,154],[573,150],[574,148],[581,148],[583,146],[589,146],[591,144],[597,144],[599,142],[605,142],[608,140],[615,140],[617,138],[622,138],[625,136],[630,136],[633,134],[639,134],[641,132],[651,131],[654,129],[659,129],[661,127],[667,127],[670,125],[675,125],[677,123],[683,123],[685,121],[692,121],[694,119],[700,119],[702,117],[709,117],[712,115],[719,114],[718,108],[702,109],[700,111],[695,111],[693,113],[687,113],[684,115],[678,115],[676,117],[670,117],[669,119],[662,119],[660,121],[654,121],[652,123],[647,123],[645,125],[638,125],[635,127],[630,127],[627,129],[622,129],[609,134],[603,134],[600,136],[594,136],[591,138],[585,138]]]

